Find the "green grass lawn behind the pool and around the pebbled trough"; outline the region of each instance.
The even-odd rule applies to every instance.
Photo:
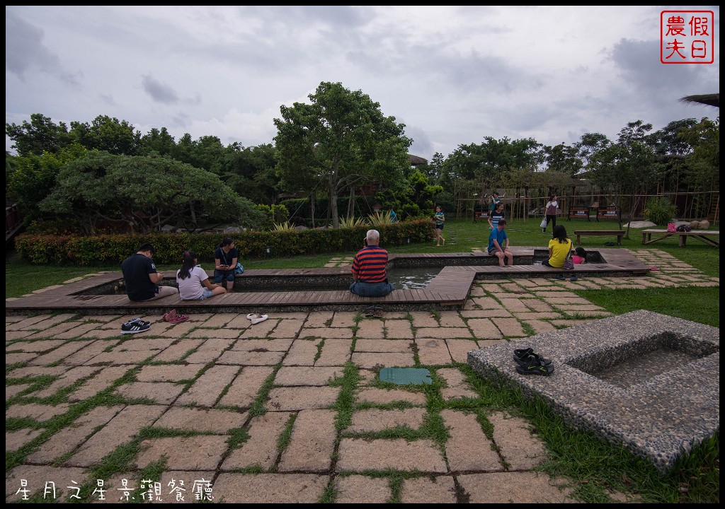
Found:
[[[551,227],[544,234],[539,227],[540,219],[513,220],[507,227],[511,245],[536,246],[544,248],[551,238]],[[570,237],[573,230],[618,230],[618,224],[611,221],[586,222],[581,220],[560,220]],[[713,227],[716,228],[717,226]],[[487,222],[473,223],[471,219],[449,220],[443,231],[444,246],[435,242],[402,246],[386,246],[392,253],[470,253],[472,248],[485,251],[489,227]],[[583,237],[581,246],[585,249],[620,248],[656,250],[674,256],[711,277],[720,275],[720,251],[697,240],[689,240],[687,248],[680,248],[676,238],[663,240],[653,245],[642,245],[639,230],[631,230],[621,246],[607,246],[605,242],[614,237]],[[190,246],[193,248],[193,246]],[[129,253],[130,254],[130,253]],[[327,253],[294,258],[244,259],[247,269],[271,268],[318,268],[330,258],[352,256],[355,253]],[[178,266],[159,266],[161,271],[172,271]],[[78,267],[78,266],[35,266],[20,260],[14,252],[6,253],[5,296],[18,297],[49,285],[61,284],[68,279],[99,271],[119,271],[120,266]],[[678,318],[697,321],[719,327],[719,287],[667,287],[621,290],[577,290],[582,298],[607,309],[613,314],[624,314],[637,309],[647,309]],[[479,392],[481,405],[485,408],[516,408],[529,418],[550,450],[550,460],[542,468],[552,475],[563,475],[579,482],[577,494],[587,502],[603,502],[602,494],[609,489],[628,491],[636,487],[643,502],[719,502],[719,434],[695,449],[684,458],[667,476],[659,476],[654,467],[645,460],[634,458],[623,447],[616,447],[566,426],[562,419],[552,412],[541,400],[528,400],[517,390],[500,390],[483,379],[476,377],[466,364],[457,366],[469,375],[474,389]],[[521,487],[526,489],[526,487]]]

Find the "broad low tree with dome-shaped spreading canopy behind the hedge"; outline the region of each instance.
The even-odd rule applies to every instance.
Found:
[[[195,230],[228,221],[258,227],[265,221],[253,203],[204,169],[173,159],[106,152],[62,167],[40,208],[76,219],[86,233],[104,220],[123,221],[141,232],[165,224]]]

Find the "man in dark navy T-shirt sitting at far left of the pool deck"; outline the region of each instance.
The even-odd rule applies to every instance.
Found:
[[[164,276],[156,270],[152,260],[154,254],[156,250],[152,244],[141,244],[136,254],[129,256],[121,264],[128,300],[142,302],[178,295],[178,290],[173,286],[157,285]]]

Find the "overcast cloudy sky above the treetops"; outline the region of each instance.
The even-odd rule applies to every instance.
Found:
[[[712,10],[713,64],[660,63],[660,12]],[[715,118],[716,6],[5,7],[5,122],[126,120],[178,140],[273,143],[280,106],[323,81],[406,125],[410,153],[484,138],[571,144]],[[12,142],[6,136],[6,150]]]

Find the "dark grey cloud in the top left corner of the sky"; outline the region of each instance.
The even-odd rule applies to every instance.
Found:
[[[75,75],[65,72],[58,55],[43,45],[43,30],[5,9],[5,69],[25,80],[34,67],[61,80],[77,84]]]

